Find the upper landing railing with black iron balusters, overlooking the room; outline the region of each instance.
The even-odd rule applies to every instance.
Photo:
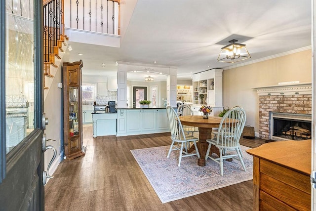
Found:
[[[70,28],[119,35],[119,0],[69,0],[65,25]]]

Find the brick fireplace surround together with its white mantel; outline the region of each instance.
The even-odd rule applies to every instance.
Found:
[[[280,84],[255,89],[259,94],[259,137],[262,139],[273,139],[273,113],[312,115],[311,83]]]

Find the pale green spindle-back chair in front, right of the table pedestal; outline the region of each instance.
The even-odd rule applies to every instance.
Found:
[[[206,139],[208,149],[205,155],[205,162],[208,158],[220,164],[221,175],[224,175],[223,161],[229,158],[235,158],[240,161],[242,168],[246,171],[245,165],[242,160],[241,149],[239,145],[239,139],[246,123],[246,113],[240,107],[234,107],[230,109],[223,116],[220,125],[218,127],[218,133],[216,138]],[[219,149],[219,158],[214,158],[209,155],[211,145],[214,145]],[[235,154],[228,152],[234,152]]]

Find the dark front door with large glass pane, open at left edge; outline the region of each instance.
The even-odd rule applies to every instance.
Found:
[[[44,210],[42,0],[0,1],[0,210]]]

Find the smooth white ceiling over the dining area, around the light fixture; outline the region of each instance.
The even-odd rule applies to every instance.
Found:
[[[311,0],[137,0],[128,26],[122,26],[119,48],[70,42],[70,58],[82,59],[83,74],[88,75],[116,76],[116,61],[150,66],[157,61],[178,67],[178,78],[190,79],[207,69],[308,48],[311,20]],[[246,44],[251,58],[217,62],[221,47],[232,39]],[[143,81],[143,75],[128,77]],[[158,75],[151,76],[159,81]]]

